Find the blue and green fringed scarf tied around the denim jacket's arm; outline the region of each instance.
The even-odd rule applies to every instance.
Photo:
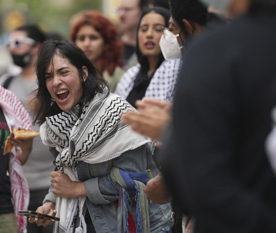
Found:
[[[120,185],[118,203],[117,232],[129,232],[128,211],[130,212],[130,198],[128,190],[135,191],[137,233],[150,233],[150,219],[148,211],[148,201],[145,197],[144,188],[147,181],[152,178],[150,171],[143,173],[126,172],[117,167],[113,167],[110,172],[113,183]],[[116,187],[115,187],[116,189]]]

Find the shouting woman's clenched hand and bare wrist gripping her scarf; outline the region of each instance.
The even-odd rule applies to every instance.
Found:
[[[51,172],[53,194],[58,197],[87,197],[84,182],[74,182],[59,171]]]

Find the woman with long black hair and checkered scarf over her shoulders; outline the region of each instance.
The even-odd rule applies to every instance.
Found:
[[[146,9],[140,17],[135,47],[139,63],[124,73],[115,89],[134,107],[135,101],[143,97],[174,99],[182,59],[164,60],[159,45],[169,18],[170,11],[163,7]]]

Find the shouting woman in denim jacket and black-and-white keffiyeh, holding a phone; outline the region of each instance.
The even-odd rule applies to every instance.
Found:
[[[173,213],[152,204],[144,187],[158,171],[151,140],[122,124],[133,110],[109,91],[83,51],[48,40],[37,58],[37,115],[58,171],[37,212],[60,212],[58,232],[169,232]],[[56,197],[62,197],[55,209]],[[52,222],[29,218],[47,226]]]

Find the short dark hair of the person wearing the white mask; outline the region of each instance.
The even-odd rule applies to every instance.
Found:
[[[192,20],[199,25],[206,25],[208,20],[207,7],[199,0],[169,0],[170,13],[179,27],[185,30],[182,19]]]

